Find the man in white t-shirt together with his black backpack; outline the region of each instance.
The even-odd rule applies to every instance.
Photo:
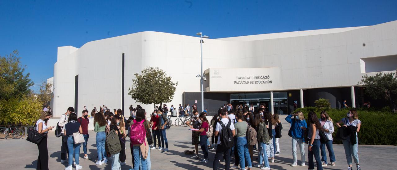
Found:
[[[227,118],[225,109],[221,109],[221,120],[216,124],[215,136],[218,136],[218,147],[216,148],[214,163],[212,169],[217,170],[219,160],[222,156],[225,158],[225,170],[230,169],[230,149],[234,145],[233,137],[235,136],[234,125],[231,120]]]

